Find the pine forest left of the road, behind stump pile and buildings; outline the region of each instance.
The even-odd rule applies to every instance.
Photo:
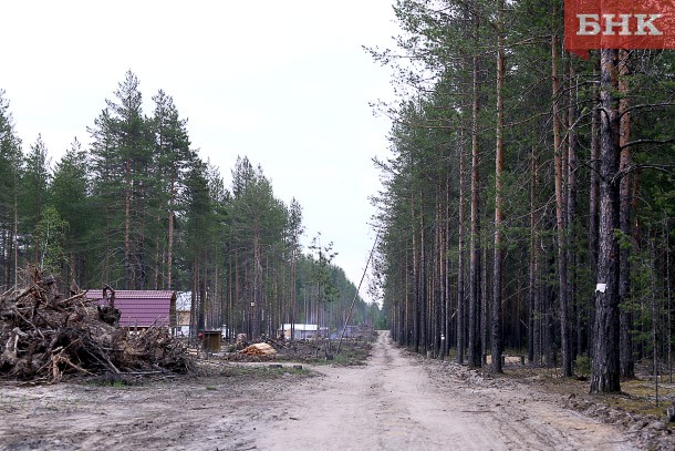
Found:
[[[191,294],[191,330],[276,337],[281,324],[341,330],[380,310],[332,263],[318,233],[308,249],[302,207],[274,196],[262,167],[238,157],[230,188],[190,145],[170,95],[145,103],[127,72],[87,132],[53,165],[39,136],[24,145],[0,91],[0,291],[24,286],[29,267],[65,291],[170,289]],[[323,242],[322,242],[323,238]],[[233,337],[227,337],[233,338]]]

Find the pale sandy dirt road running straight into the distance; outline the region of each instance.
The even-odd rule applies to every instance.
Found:
[[[381,332],[366,367],[322,369],[292,394],[291,419],[257,440],[263,450],[627,450],[622,433],[532,393],[429,378]],[[305,382],[307,383],[307,382]]]

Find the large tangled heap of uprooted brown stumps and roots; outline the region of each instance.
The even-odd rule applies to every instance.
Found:
[[[85,294],[71,287],[63,296],[53,278],[34,270],[30,286],[0,295],[0,377],[49,383],[191,369],[186,347],[166,328],[120,328],[111,320],[120,314]]]

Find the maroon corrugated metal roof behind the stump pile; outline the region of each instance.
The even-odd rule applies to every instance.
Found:
[[[89,290],[86,297],[96,299],[100,305],[108,304],[107,299],[103,299],[103,290],[101,289]],[[156,325],[168,327],[172,299],[175,301],[175,291],[170,290],[115,290],[115,308],[122,314],[120,326],[149,327]]]

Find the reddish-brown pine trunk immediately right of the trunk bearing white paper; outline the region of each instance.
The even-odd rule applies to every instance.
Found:
[[[621,158],[619,170],[622,173],[622,178],[619,184],[619,228],[622,236],[622,245],[619,252],[619,305],[621,308],[620,322],[620,368],[622,378],[635,377],[635,362],[633,361],[633,339],[631,329],[633,328],[633,314],[630,309],[631,296],[631,264],[629,257],[631,255],[631,177],[625,173],[631,165],[631,147],[627,143],[631,141],[631,112],[627,111],[629,103],[629,58],[630,54],[625,50],[619,51],[619,101],[620,131],[619,145],[621,146]]]

